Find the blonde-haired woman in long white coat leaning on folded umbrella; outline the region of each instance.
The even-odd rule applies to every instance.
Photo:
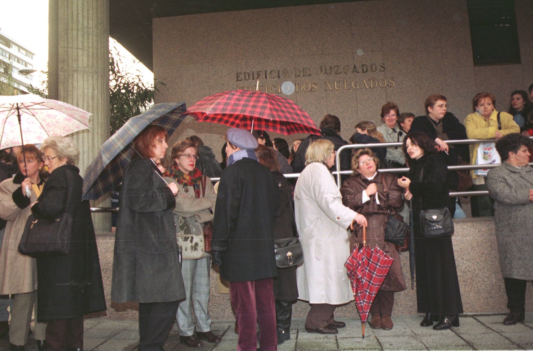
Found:
[[[353,300],[344,262],[350,256],[348,227],[366,226],[362,214],[342,204],[341,193],[329,168],[335,164],[333,142],[319,139],[305,151],[305,168],[294,189],[296,227],[304,263],[296,269],[299,298],[311,310],[305,330],[337,334],[344,322],[334,320],[337,305]]]

